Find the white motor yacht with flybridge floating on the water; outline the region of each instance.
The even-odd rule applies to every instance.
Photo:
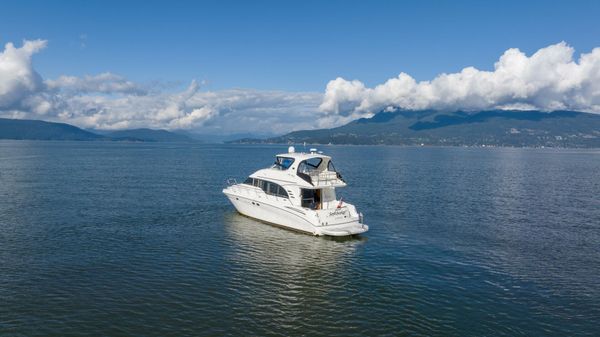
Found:
[[[247,217],[316,236],[358,235],[369,230],[356,207],[337,198],[346,182],[331,157],[317,149],[275,156],[275,163],[243,183],[228,179],[223,193]]]

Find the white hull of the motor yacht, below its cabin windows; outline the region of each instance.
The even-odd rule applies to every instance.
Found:
[[[245,216],[312,235],[348,236],[366,232],[353,206],[329,216],[327,210],[311,211],[294,207],[284,198],[268,196],[243,186],[223,190],[236,210]],[[344,213],[345,212],[345,213]]]

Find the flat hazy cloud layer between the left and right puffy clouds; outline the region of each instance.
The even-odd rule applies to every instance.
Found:
[[[321,94],[232,89],[201,91],[196,81],[179,93],[74,95],[60,120],[87,128],[204,129],[220,133],[281,133],[313,127]],[[318,115],[318,113],[317,113]],[[301,119],[308,123],[302,124]]]

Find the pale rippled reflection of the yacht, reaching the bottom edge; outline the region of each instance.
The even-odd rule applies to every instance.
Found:
[[[226,263],[240,271],[228,287],[237,289],[238,300],[248,306],[247,315],[254,317],[247,324],[264,333],[275,333],[273,327],[278,327],[302,334],[311,331],[310,324],[335,319],[335,311],[319,314],[306,309],[342,305],[336,293],[343,291],[364,239],[328,240],[234,211],[224,215],[224,230],[235,247],[225,257]]]

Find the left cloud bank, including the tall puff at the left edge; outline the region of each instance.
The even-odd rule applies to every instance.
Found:
[[[12,43],[0,54],[0,116],[72,123],[84,128],[195,129],[219,133],[284,133],[314,128],[320,93],[230,89],[148,90],[110,72],[42,79],[31,57],[46,41]]]

